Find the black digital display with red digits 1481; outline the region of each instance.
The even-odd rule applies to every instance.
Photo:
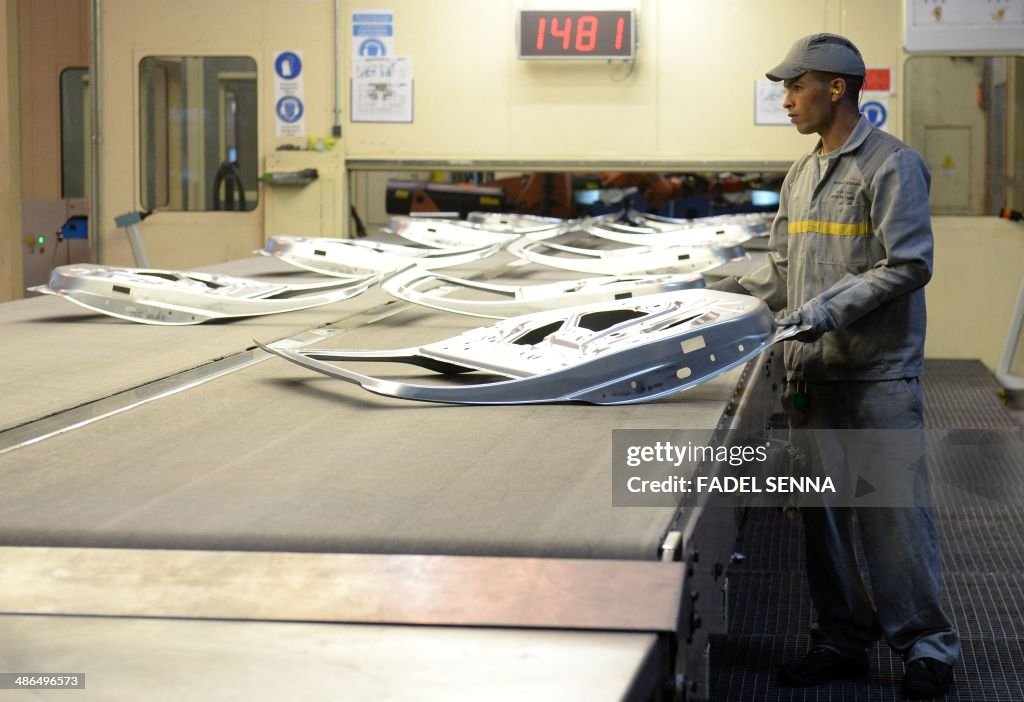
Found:
[[[633,58],[633,10],[519,10],[519,58]]]

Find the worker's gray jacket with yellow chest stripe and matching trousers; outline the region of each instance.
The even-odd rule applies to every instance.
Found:
[[[768,262],[738,283],[773,310],[790,313],[813,301],[830,318],[833,331],[811,343],[786,342],[784,350],[787,394],[792,400],[799,391],[807,401],[800,415],[791,414],[792,434],[797,443],[803,431],[800,441],[815,444],[811,450],[825,473],[847,468],[849,433],[856,430],[883,430],[883,436],[910,430],[921,441],[921,459],[912,468],[916,495],[888,495],[897,507],[855,508],[840,496],[802,510],[818,615],[811,635],[816,645],[857,656],[884,633],[907,662],[929,657],[951,664],[959,638],[940,605],[918,383],[924,286],[932,273],[928,167],[863,117],[828,155],[823,173],[819,151],[820,143],[790,170]],[[905,441],[906,432],[897,434]],[[887,465],[895,462],[895,444],[872,439],[868,448],[876,470],[906,470]],[[854,558],[854,523],[874,605]]]

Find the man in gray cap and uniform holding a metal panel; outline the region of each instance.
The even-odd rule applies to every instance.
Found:
[[[850,459],[843,432],[907,430],[920,437],[923,428],[918,378],[924,287],[932,274],[930,175],[916,151],[859,115],[864,75],[856,46],[833,34],[799,40],[767,74],[784,82],[782,105],[797,130],[820,141],[785,177],[766,264],[711,286],[755,295],[782,312],[779,325],[805,327],[785,344],[783,402],[794,434],[833,433],[824,442],[830,448],[819,454],[826,473]],[[888,448],[884,441],[872,446],[873,468],[906,470],[896,465],[905,452],[897,459]],[[905,662],[904,695],[930,699],[951,686],[959,638],[940,605],[923,444],[919,455],[916,493],[890,495],[895,507],[826,501],[801,510],[817,619],[810,653],[782,666],[781,685],[863,675],[866,650],[884,634]],[[863,547],[873,604],[853,533]]]

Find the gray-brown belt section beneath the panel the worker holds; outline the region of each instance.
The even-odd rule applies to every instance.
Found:
[[[477,323],[398,305],[333,347]],[[671,509],[611,506],[611,432],[711,435],[735,370],[623,407],[371,395],[271,358],[0,454],[4,545],[650,560]]]

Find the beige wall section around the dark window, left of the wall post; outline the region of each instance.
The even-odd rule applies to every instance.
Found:
[[[334,3],[327,0],[103,0],[102,262],[130,265],[116,215],[140,208],[138,61],[146,55],[245,55],[259,74],[262,159],[274,135],[273,54],[302,52],[306,132],[327,136],[334,104]],[[263,164],[260,164],[263,170]],[[243,258],[263,245],[265,188],[248,213],[157,212],[140,226],[154,266],[191,268]]]

